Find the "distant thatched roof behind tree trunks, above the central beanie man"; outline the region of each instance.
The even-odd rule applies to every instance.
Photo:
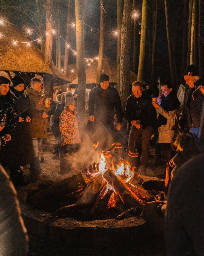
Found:
[[[98,62],[95,61],[89,68],[86,69],[86,84],[96,84]],[[110,77],[110,83],[117,84],[117,63],[115,60],[108,57],[103,58],[102,73]],[[137,75],[130,71],[130,83],[137,81]],[[74,79],[71,84],[78,84],[78,78]],[[144,81],[142,84],[147,85]]]

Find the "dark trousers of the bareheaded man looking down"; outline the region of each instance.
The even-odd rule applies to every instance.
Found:
[[[128,149],[131,151],[135,150],[135,145],[137,144],[140,137],[142,137],[142,156],[141,164],[147,167],[149,158],[149,141],[152,133],[152,126],[146,128],[136,129],[134,125],[130,127],[130,134],[128,140]]]

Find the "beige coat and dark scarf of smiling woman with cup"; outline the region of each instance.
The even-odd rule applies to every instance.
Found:
[[[174,131],[171,130],[171,127],[174,124],[177,124],[179,120],[179,106],[180,102],[176,96],[176,93],[171,91],[162,100],[160,107],[157,108],[157,113],[159,113],[158,121],[160,121],[158,124],[159,143],[171,143],[171,139],[174,134]]]

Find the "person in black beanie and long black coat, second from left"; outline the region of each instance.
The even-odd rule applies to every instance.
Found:
[[[16,189],[24,187],[27,183],[23,177],[23,165],[32,163],[33,147],[30,134],[29,122],[33,117],[31,102],[25,94],[25,82],[21,76],[14,76],[13,85],[10,86],[11,97],[15,100],[18,108],[18,125],[13,132],[12,140],[8,142],[7,162],[10,176]],[[11,157],[13,156],[13,157]]]

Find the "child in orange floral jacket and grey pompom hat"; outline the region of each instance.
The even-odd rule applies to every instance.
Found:
[[[62,173],[69,173],[72,170],[72,164],[71,161],[69,161],[69,156],[78,150],[79,143],[81,143],[77,117],[74,109],[74,97],[71,92],[66,92],[65,107],[60,115],[59,123],[63,146],[63,150],[60,152],[60,171]]]

